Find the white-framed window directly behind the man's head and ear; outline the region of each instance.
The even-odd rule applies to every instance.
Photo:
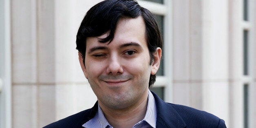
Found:
[[[171,28],[171,4],[172,0],[138,0],[142,7],[150,10],[160,27],[163,35],[162,60],[159,70],[157,71],[156,83],[150,90],[156,93],[166,102],[172,102],[172,28]]]

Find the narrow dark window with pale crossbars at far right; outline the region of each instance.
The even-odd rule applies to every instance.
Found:
[[[249,3],[251,0],[243,0],[243,20],[242,20],[242,33],[243,33],[243,124],[244,128],[249,128],[250,123],[250,88],[253,82],[252,76],[252,21],[250,17]]]

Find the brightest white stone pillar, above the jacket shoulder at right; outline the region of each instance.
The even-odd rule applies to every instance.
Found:
[[[202,7],[203,110],[229,124],[228,1],[202,0]]]

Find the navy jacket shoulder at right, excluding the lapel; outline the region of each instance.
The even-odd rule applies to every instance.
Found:
[[[225,128],[225,121],[217,116],[202,110],[183,106],[179,104],[167,103],[177,111],[188,126],[207,126],[207,128]]]

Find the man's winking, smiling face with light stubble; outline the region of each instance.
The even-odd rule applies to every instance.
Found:
[[[107,34],[86,39],[85,67],[81,60],[80,64],[100,106],[128,108],[148,96],[150,74],[155,74],[158,66],[150,65],[145,31],[141,16],[124,18],[110,44],[98,42]]]

